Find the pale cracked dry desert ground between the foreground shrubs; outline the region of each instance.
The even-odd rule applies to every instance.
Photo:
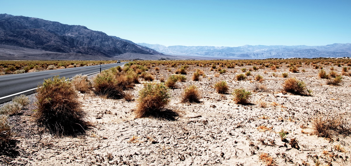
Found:
[[[167,71],[169,67],[158,67],[159,73],[153,67],[148,72],[154,73],[157,79],[162,76],[167,78],[171,74]],[[101,99],[79,94],[89,120],[95,127],[79,137],[55,138],[45,133],[39,137],[31,120],[31,110],[25,110],[23,115],[16,117],[21,122],[21,128],[16,127],[16,131],[22,131],[16,137],[20,155],[8,161],[26,165],[254,166],[266,165],[259,160],[259,156],[268,153],[277,165],[302,165],[303,162],[327,165],[328,161],[332,165],[351,165],[349,136],[325,139],[313,135],[311,129],[313,117],[334,113],[351,114],[350,77],[343,76],[340,86],[326,86],[325,80],[318,77],[319,70],[312,69],[312,66],[306,68],[303,65],[299,68],[300,71],[305,69],[305,73],[291,73],[283,65],[277,71],[270,68],[252,71],[252,76],[248,77],[251,80],[234,80],[237,74],[243,73],[240,70],[243,67],[248,69],[251,66],[236,66],[215,77],[217,72],[210,72],[210,67],[190,66],[186,82],[178,82],[178,88],[169,90],[172,99],[167,108],[178,110],[182,115],[176,121],[135,119],[133,109],[137,101]],[[196,68],[204,70],[206,78],[192,81],[192,73]],[[341,67],[335,68],[340,73]],[[324,69],[329,72],[329,67]],[[174,72],[176,68],[172,70]],[[232,73],[235,70],[237,73]],[[304,81],[307,88],[313,90],[312,96],[280,93],[281,85],[287,79],[280,77],[283,72]],[[272,76],[272,73],[277,76]],[[263,82],[253,80],[257,74],[264,77]],[[215,91],[213,85],[219,80],[228,82],[229,94],[220,95]],[[252,92],[254,84],[266,85],[268,91]],[[199,87],[203,96],[201,103],[180,103],[182,88],[188,85]],[[142,84],[137,84],[132,90],[135,99],[142,87]],[[252,104],[243,106],[233,102],[230,93],[240,87],[252,92]],[[259,100],[266,102],[267,107],[259,107]],[[267,119],[263,119],[263,116]],[[307,128],[302,129],[302,124]],[[272,129],[260,131],[257,129],[259,126]],[[279,146],[284,145],[279,136],[282,129],[289,132],[287,140],[298,140],[299,150],[289,144]],[[274,140],[277,146],[262,145],[258,140],[260,138],[266,144],[272,144],[270,141]],[[343,147],[345,152],[336,151],[335,145]],[[330,154],[333,153],[337,155],[331,159]]]

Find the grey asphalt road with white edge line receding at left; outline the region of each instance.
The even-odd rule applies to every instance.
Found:
[[[101,65],[101,71],[111,67],[121,66],[127,62]],[[95,74],[100,72],[100,65],[46,70],[32,73],[11,74],[0,76],[0,104],[11,101],[17,95],[33,94],[35,88],[44,82],[44,79],[59,75],[60,77],[72,78],[77,74]]]

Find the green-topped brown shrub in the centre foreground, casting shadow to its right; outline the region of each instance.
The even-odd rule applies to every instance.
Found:
[[[135,114],[137,118],[148,117],[161,111],[170,102],[167,87],[163,84],[146,83],[139,91]]]

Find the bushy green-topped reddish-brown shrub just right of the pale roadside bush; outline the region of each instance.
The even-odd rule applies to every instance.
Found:
[[[125,83],[125,77],[122,75],[115,76],[111,71],[103,71],[93,79],[93,92],[96,95],[112,99],[119,99],[124,92],[121,86]]]

